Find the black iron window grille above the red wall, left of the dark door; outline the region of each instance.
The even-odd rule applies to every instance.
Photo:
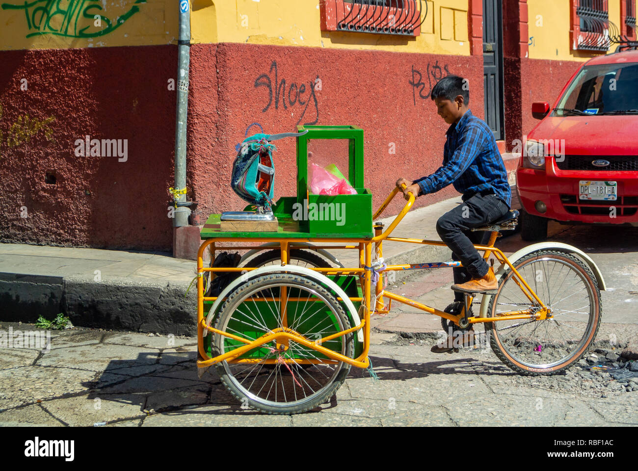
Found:
[[[414,36],[427,17],[426,0],[344,0],[346,5],[338,31]]]

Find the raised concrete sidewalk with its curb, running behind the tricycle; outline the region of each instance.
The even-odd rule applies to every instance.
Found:
[[[460,202],[457,197],[416,209],[392,235],[440,240],[436,220]],[[451,259],[447,247],[415,244],[385,243],[383,253],[392,264]],[[345,266],[358,266],[355,250],[334,255]],[[0,244],[0,320],[33,323],[40,315],[64,313],[82,327],[193,335],[197,290],[185,294],[195,269],[193,260],[169,253]]]

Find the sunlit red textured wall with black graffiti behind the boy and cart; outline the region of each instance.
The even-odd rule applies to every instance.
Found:
[[[376,209],[399,177],[417,179],[440,166],[448,126],[436,114],[429,92],[436,83],[434,77],[448,73],[470,80],[470,108],[483,117],[480,56],[235,43],[193,45],[188,168],[189,185],[195,189],[202,216],[245,206],[230,191],[229,181],[235,145],[244,139],[251,123],[261,124],[266,133],[294,131],[298,123],[363,128],[366,186],[373,192]],[[322,90],[313,95],[317,78]],[[249,135],[257,132],[259,128],[253,126]],[[389,154],[390,142],[396,145],[396,154]],[[295,140],[276,144],[275,196],[295,195]],[[456,194],[450,186],[419,198],[416,206]],[[403,206],[401,200],[396,201],[386,215],[396,214]]]

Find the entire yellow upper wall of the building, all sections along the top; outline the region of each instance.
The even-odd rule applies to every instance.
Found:
[[[618,27],[620,2],[609,0],[609,19]],[[427,18],[416,38],[321,31],[318,0],[190,3],[193,43],[470,55],[468,0],[428,0]],[[179,0],[0,0],[0,50],[176,43],[178,4]],[[596,55],[571,49],[569,0],[528,0],[528,15],[531,59],[586,61]],[[612,45],[610,52],[614,49]]]

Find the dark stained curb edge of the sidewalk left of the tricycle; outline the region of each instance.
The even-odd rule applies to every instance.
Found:
[[[34,324],[59,313],[73,325],[160,334],[197,334],[197,291],[187,284],[140,283],[124,277],[0,273],[3,322]]]

